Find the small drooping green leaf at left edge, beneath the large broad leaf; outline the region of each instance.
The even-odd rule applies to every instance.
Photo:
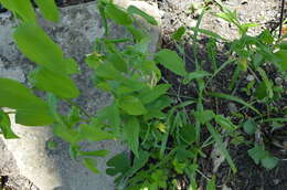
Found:
[[[0,129],[6,139],[19,138],[11,128],[11,123],[8,114],[0,108]]]

